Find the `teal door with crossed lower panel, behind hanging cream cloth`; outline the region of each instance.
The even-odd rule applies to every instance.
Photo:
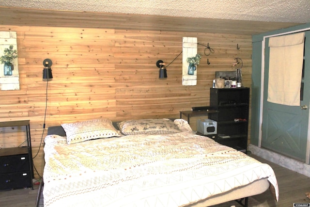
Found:
[[[267,101],[269,38],[265,40],[263,93],[263,148],[306,161],[310,103],[310,31],[306,32],[300,106],[286,106]]]

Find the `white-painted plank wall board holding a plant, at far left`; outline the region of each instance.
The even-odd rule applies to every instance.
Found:
[[[13,45],[17,50],[16,32],[0,32],[0,57],[4,54],[4,49]],[[13,60],[14,69],[12,75],[4,75],[4,64],[0,63],[0,89],[19,90],[18,59]]]

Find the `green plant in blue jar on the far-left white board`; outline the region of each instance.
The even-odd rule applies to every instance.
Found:
[[[5,48],[3,55],[0,57],[1,64],[4,64],[4,76],[12,76],[14,70],[13,61],[17,58],[17,50],[13,49],[13,45]]]

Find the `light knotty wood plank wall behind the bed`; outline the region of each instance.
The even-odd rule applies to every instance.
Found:
[[[20,78],[20,90],[0,91],[0,120],[31,120],[34,165],[41,176],[46,95],[47,128],[96,118],[178,118],[179,111],[209,105],[215,72],[234,71],[236,57],[244,63],[244,86],[251,86],[251,35],[14,25],[0,25],[0,31],[17,32]],[[167,68],[168,79],[158,79],[156,61],[170,63],[182,51],[183,36],[214,49],[205,56],[209,50],[198,46],[196,86],[182,86],[182,55]],[[42,81],[46,58],[53,62],[48,85]],[[0,132],[0,147],[24,140],[20,128]]]

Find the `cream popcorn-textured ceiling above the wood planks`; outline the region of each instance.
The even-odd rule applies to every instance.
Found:
[[[310,22],[310,0],[0,0],[0,6],[265,22]]]

